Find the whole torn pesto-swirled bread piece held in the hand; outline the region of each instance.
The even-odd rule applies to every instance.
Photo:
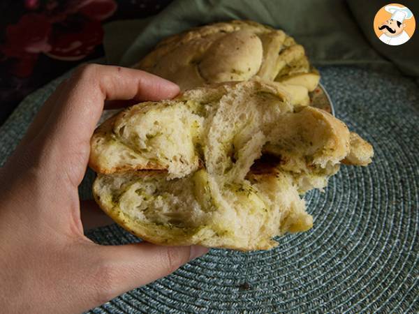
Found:
[[[155,244],[265,250],[276,236],[309,230],[302,195],[360,156],[360,143],[331,114],[293,105],[280,84],[216,84],[135,105],[99,127],[93,193],[117,223]],[[138,159],[115,159],[118,170],[102,155],[121,147]],[[372,150],[362,151],[353,163],[369,162]]]

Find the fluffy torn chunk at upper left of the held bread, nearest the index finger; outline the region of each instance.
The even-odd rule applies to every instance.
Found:
[[[196,170],[196,144],[203,118],[184,103],[141,103],[99,126],[91,138],[90,167],[96,172]],[[182,145],[181,147],[179,145]]]

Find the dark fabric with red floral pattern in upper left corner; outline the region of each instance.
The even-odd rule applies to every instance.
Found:
[[[0,4],[0,124],[34,89],[103,56],[103,23],[158,13],[170,0],[9,0]]]

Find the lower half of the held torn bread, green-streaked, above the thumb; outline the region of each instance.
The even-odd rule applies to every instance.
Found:
[[[265,250],[277,245],[272,237],[313,223],[281,172],[223,186],[203,169],[170,181],[161,172],[99,174],[93,190],[112,219],[154,244]]]

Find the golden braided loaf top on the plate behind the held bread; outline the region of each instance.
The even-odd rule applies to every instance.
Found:
[[[171,80],[182,90],[254,75],[272,81],[312,71],[304,47],[284,31],[240,20],[163,39],[133,67]]]

